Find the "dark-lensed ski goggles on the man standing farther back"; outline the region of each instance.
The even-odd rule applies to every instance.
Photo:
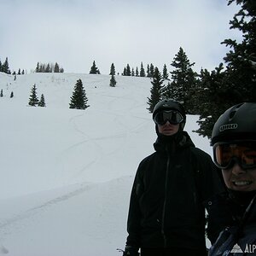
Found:
[[[164,110],[156,113],[154,123],[157,125],[165,125],[169,121],[172,125],[177,125],[183,122],[183,115],[177,110]]]

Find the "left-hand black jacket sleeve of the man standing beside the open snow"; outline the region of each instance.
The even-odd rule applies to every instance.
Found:
[[[126,246],[140,247],[141,218],[142,213],[139,206],[139,198],[143,193],[143,178],[140,177],[141,165],[137,169],[137,174],[131,189],[130,206],[127,219],[127,240]]]

